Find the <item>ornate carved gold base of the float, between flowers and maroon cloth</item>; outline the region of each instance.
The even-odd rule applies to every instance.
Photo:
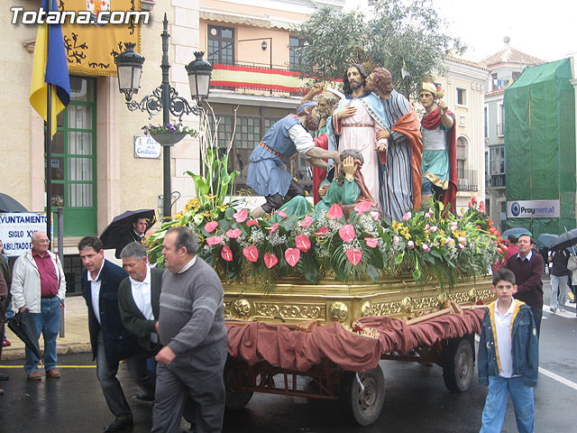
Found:
[[[453,288],[430,283],[418,285],[410,279],[388,278],[377,283],[347,284],[321,281],[310,284],[293,278],[278,281],[268,294],[250,284],[223,284],[224,317],[240,320],[300,323],[316,319],[319,325],[339,321],[351,326],[366,316],[413,318],[453,300],[472,305],[479,299],[494,299],[490,277],[457,283]],[[282,319],[282,320],[281,320]]]

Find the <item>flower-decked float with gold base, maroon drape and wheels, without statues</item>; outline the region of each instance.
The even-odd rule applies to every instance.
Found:
[[[221,276],[229,409],[268,392],[341,401],[369,425],[384,402],[381,359],[438,364],[449,390],[469,387],[476,304],[491,299],[487,274],[503,253],[482,202],[460,217],[431,201],[388,220],[360,201],[255,219],[230,196],[226,157],[201,152],[204,175],[188,173],[197,197],[149,244],[161,266],[169,227],[188,226]]]

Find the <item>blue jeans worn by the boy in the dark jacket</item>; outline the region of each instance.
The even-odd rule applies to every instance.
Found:
[[[535,429],[535,408],[533,388],[523,384],[522,377],[509,379],[490,376],[489,393],[485,401],[480,433],[499,433],[505,419],[508,395],[511,395],[515,409],[515,421],[519,433],[533,433]]]

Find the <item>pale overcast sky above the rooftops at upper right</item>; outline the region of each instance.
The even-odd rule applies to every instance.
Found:
[[[433,0],[477,60],[510,46],[546,61],[577,52],[577,0]],[[350,5],[366,0],[347,0]],[[358,7],[358,6],[357,6]]]

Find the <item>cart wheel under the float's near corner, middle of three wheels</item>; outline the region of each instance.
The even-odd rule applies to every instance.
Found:
[[[385,377],[380,366],[358,373],[358,379],[357,373],[345,372],[339,400],[349,418],[360,426],[369,426],[379,419],[385,402]]]

